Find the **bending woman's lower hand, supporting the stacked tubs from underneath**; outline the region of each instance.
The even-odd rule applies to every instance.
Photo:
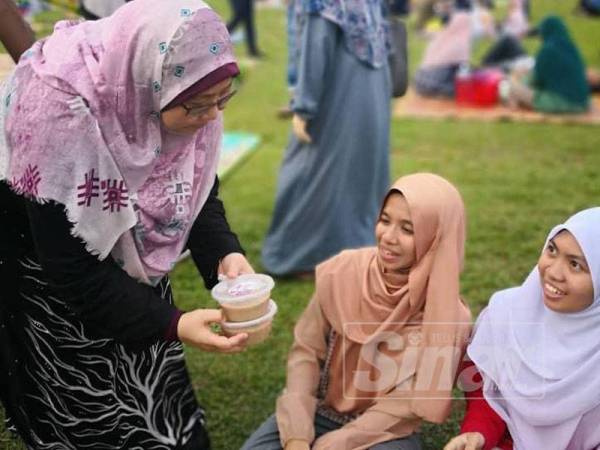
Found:
[[[248,334],[226,337],[215,333],[211,326],[223,321],[220,309],[196,309],[181,315],[177,336],[181,342],[207,352],[237,353],[246,348]]]

